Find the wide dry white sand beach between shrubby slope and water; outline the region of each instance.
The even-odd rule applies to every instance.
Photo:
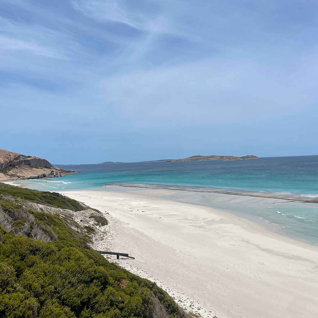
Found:
[[[156,191],[164,196],[171,190]],[[107,211],[99,250],[155,281],[180,306],[203,317],[316,318],[318,248],[230,213],[154,198],[149,192],[66,191]]]

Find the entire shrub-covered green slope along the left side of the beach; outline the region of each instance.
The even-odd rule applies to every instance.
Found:
[[[87,243],[93,227],[80,226],[65,215],[27,209],[24,200],[83,210],[66,197],[0,183],[0,317],[187,316],[155,283],[91,249]],[[105,220],[95,219],[100,224]]]

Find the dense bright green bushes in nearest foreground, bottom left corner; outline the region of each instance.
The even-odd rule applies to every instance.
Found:
[[[101,255],[0,231],[0,317],[152,318],[154,299],[171,318],[184,315],[156,284]]]

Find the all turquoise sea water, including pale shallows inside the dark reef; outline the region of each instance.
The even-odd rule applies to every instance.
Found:
[[[105,189],[114,183],[166,185],[197,191],[233,189],[233,193],[254,191],[264,196],[298,197],[318,201],[318,156],[292,156],[242,161],[134,162],[60,166],[82,171],[63,178],[28,180],[28,187],[38,190],[66,191]],[[106,190],[106,189],[105,189]],[[184,192],[184,191],[180,191]],[[245,193],[246,194],[246,193]],[[242,197],[243,198],[243,197]],[[248,197],[245,197],[248,198]],[[180,197],[180,201],[184,198]],[[273,200],[267,202],[266,200]],[[241,203],[193,202],[226,211],[240,211],[257,218],[284,235],[318,244],[318,204],[266,199],[257,205]],[[191,200],[190,200],[191,202]]]

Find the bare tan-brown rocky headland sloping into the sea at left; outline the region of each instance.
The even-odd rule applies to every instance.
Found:
[[[0,181],[62,177],[76,173],[54,167],[43,158],[0,149]]]

